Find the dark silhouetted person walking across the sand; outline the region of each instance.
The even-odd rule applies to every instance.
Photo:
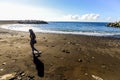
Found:
[[[32,53],[34,53],[34,51],[37,51],[39,53],[39,51],[34,47],[34,44],[36,43],[36,35],[32,29],[29,29],[29,32],[30,32],[30,39],[31,39],[30,46],[32,48]]]

